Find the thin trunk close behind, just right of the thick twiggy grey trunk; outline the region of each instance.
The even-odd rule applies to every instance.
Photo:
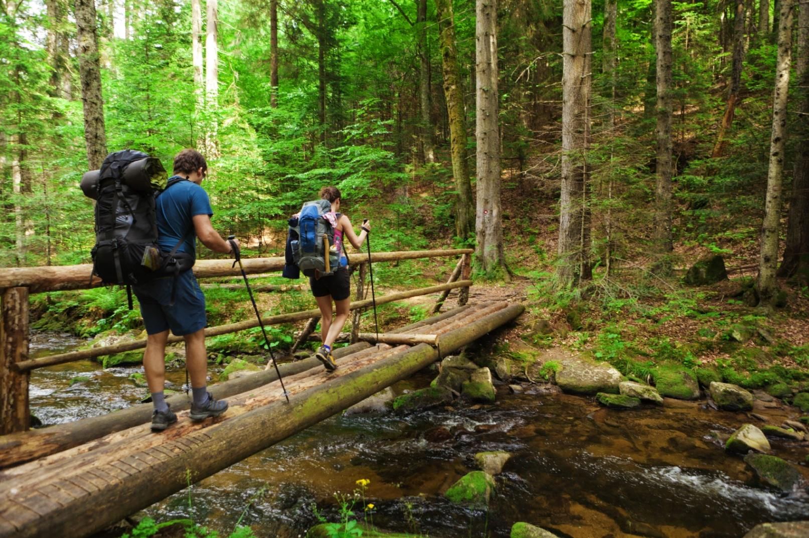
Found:
[[[615,130],[615,90],[616,90],[616,67],[617,48],[616,41],[616,21],[618,19],[618,0],[606,0],[604,2],[604,56],[601,62],[601,72],[607,82],[607,125],[606,130],[609,137]],[[613,155],[610,151],[610,162]],[[612,168],[612,166],[611,166]],[[607,242],[604,252],[604,275],[609,276],[612,271],[612,171],[606,178],[607,181],[607,212],[604,215],[604,237]]]

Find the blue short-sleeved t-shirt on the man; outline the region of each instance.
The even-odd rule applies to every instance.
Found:
[[[177,252],[193,254],[196,258],[197,234],[194,231],[193,216],[214,214],[205,189],[192,181],[177,182],[160,193],[155,201],[155,210],[160,250],[171,252],[180,237],[184,237]]]

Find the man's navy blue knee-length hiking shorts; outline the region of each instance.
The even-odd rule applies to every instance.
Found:
[[[172,285],[176,286],[174,305]],[[141,304],[146,334],[158,334],[171,329],[176,336],[196,333],[208,325],[205,318],[205,296],[193,271],[183,271],[174,277],[155,279],[132,287]]]

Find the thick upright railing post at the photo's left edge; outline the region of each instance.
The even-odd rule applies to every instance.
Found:
[[[0,301],[0,435],[28,430],[30,372],[14,365],[28,359],[28,288],[6,288]]]

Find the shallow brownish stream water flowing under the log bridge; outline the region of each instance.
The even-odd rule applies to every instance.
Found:
[[[32,409],[56,423],[128,406],[146,395],[129,380],[138,371],[89,362],[37,371]],[[75,376],[90,380],[68,387]],[[180,387],[184,371],[169,379]],[[395,389],[429,381],[420,374]],[[786,417],[774,406],[761,413],[777,424]],[[239,523],[256,536],[294,537],[319,516],[337,521],[342,499],[354,502],[356,519],[435,538],[506,537],[516,521],[573,538],[740,538],[757,523],[809,519],[803,492],[781,497],[757,486],[742,459],[723,450],[720,439],[750,420],[705,401],[614,411],[592,398],[498,387],[491,406],[329,418],[138,516],[190,517],[221,536]],[[803,443],[771,443],[793,463],[809,452]],[[475,469],[474,454],[493,450],[513,456],[489,511],[447,502],[443,492]],[[362,479],[370,481],[364,488]]]

